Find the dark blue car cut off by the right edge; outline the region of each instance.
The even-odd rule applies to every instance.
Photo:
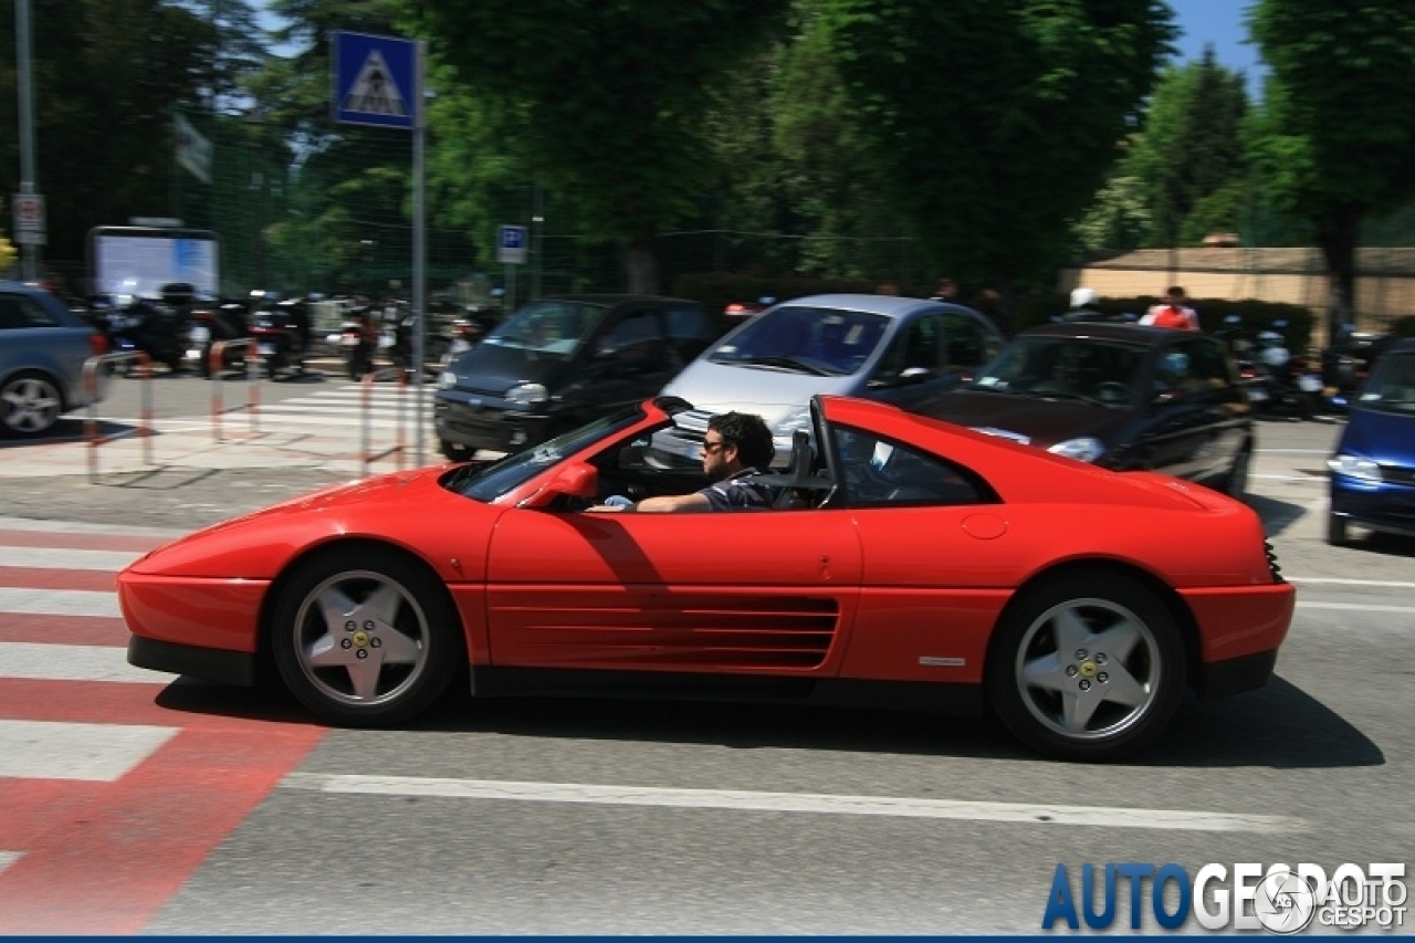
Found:
[[[1351,398],[1332,469],[1327,542],[1354,524],[1415,537],[1415,338],[1390,347]]]

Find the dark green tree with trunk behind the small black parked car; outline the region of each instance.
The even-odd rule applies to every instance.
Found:
[[[587,235],[625,246],[630,290],[657,290],[654,236],[691,218],[713,178],[713,89],[773,35],[788,0],[408,6],[497,136]]]

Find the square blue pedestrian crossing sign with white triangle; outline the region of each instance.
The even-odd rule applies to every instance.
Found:
[[[423,101],[416,40],[335,31],[334,120],[345,125],[417,127]]]

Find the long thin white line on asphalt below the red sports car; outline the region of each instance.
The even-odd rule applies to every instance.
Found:
[[[668,808],[729,808],[833,816],[899,816],[1107,828],[1163,828],[1176,831],[1282,833],[1303,825],[1285,816],[1245,816],[1170,808],[1049,806],[1024,803],[899,799],[890,796],[833,796],[819,793],[761,793],[734,789],[661,789],[590,783],[518,783],[485,779],[422,779],[410,776],[341,776],[290,773],[287,789],[375,796],[430,796],[532,803],[590,803],[600,806],[658,806]]]

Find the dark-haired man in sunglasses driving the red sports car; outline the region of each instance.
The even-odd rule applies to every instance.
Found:
[[[664,494],[634,504],[610,498],[590,511],[760,511],[770,508],[775,488],[757,481],[775,456],[766,421],[750,412],[724,412],[708,421],[703,474],[712,481],[692,494]]]

